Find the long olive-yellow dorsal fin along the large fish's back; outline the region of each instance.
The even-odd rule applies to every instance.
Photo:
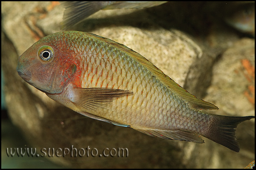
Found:
[[[190,94],[188,91],[183,89],[180,85],[178,85],[174,80],[172,80],[170,77],[166,76],[166,74],[163,73],[159,68],[157,68],[152,62],[148,61],[145,57],[137,53],[136,51],[133,51],[131,48],[128,48],[127,46],[120,44],[118,42],[115,42],[113,40],[110,40],[108,38],[100,37],[96,34],[89,34],[89,36],[92,36],[93,38],[96,38],[100,41],[104,41],[108,44],[113,45],[117,49],[120,49],[125,54],[128,54],[131,57],[134,57],[138,62],[140,62],[143,66],[148,68],[149,71],[151,71],[156,77],[163,82],[165,85],[169,87],[169,89],[180,96],[182,99],[184,99],[186,102],[189,103],[189,105],[192,108],[195,109],[218,109],[217,106],[213,105],[212,103],[206,102],[202,99],[198,99],[196,96]]]

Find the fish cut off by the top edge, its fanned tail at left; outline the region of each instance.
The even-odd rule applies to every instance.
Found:
[[[167,1],[65,1],[61,27],[70,28],[101,9],[143,9],[159,6]]]

